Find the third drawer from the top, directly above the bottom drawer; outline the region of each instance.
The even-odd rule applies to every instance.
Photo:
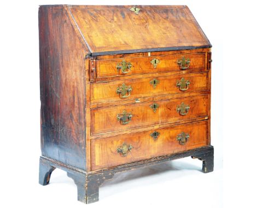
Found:
[[[209,95],[91,109],[91,134],[207,117]]]

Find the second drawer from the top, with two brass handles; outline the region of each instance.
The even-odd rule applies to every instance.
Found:
[[[208,72],[91,84],[91,103],[139,99],[209,89]]]

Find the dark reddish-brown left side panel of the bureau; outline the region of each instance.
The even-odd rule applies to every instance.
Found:
[[[42,155],[86,169],[85,49],[62,5],[39,8]]]

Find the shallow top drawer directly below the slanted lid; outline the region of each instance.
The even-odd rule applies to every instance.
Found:
[[[96,60],[96,76],[129,76],[153,72],[206,69],[206,53]]]

